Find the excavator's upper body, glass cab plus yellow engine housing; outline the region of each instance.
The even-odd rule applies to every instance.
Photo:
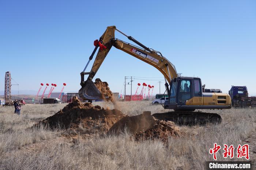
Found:
[[[226,93],[203,93],[201,79],[198,77],[177,77],[170,83],[169,101],[165,109],[194,111],[195,109],[231,108],[230,96]]]

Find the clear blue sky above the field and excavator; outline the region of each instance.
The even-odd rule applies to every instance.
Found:
[[[246,85],[256,95],[255,9],[254,0],[2,0],[0,90],[10,71],[20,90],[38,90],[41,82],[48,82],[56,83],[60,91],[65,82],[64,91],[78,91],[93,41],[115,25],[161,51],[178,73],[200,77],[206,88],[228,92],[231,85]],[[128,41],[118,32],[116,37]],[[113,47],[95,78],[107,81],[113,92],[123,92],[124,76],[157,77],[133,81],[154,85],[157,93],[157,80],[163,80],[154,67]]]

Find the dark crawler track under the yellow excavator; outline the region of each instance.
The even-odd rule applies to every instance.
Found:
[[[173,121],[178,125],[204,125],[206,123],[219,124],[222,118],[217,113],[191,112],[191,111],[173,111],[165,113],[154,113],[156,119]]]

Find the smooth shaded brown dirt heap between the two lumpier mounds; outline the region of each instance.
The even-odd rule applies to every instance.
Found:
[[[150,112],[143,112],[143,114],[137,116],[123,117],[110,128],[109,133],[117,134],[127,128],[127,130],[134,134],[150,128],[155,123],[156,119],[150,114]]]

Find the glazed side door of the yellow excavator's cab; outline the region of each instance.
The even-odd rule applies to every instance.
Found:
[[[178,92],[178,105],[186,105],[187,101],[192,97],[192,80],[182,79],[179,83],[179,92]],[[189,104],[190,105],[190,104]]]

